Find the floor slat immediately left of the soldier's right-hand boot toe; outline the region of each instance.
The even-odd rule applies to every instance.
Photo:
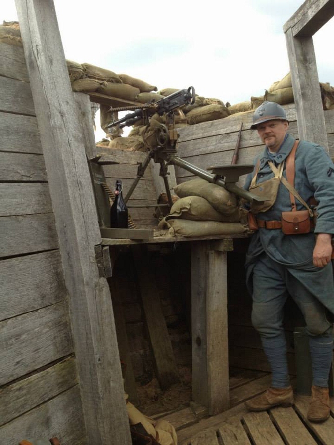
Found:
[[[287,445],[316,445],[293,408],[277,407],[270,410],[270,417]]]

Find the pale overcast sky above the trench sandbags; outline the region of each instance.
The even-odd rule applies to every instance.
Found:
[[[200,96],[231,104],[263,95],[289,72],[282,28],[302,4],[54,0],[66,59],[158,89],[193,86]],[[0,12],[2,20],[17,20],[14,0],[2,0]],[[334,86],[334,18],[313,41],[319,80]]]

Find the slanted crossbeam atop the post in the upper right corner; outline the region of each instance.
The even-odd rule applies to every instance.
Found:
[[[307,0],[285,23],[283,31],[292,28],[293,37],[312,37],[333,15],[332,0]]]

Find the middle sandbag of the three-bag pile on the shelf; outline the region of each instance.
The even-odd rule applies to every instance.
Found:
[[[225,221],[239,222],[241,215],[239,208],[235,208],[235,212],[231,215],[224,215],[212,207],[212,205],[200,196],[186,196],[178,199],[172,206],[166,220],[171,218],[183,218],[186,220],[196,221]]]

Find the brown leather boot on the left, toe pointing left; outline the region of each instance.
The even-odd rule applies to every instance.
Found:
[[[245,402],[246,408],[250,411],[265,411],[266,409],[273,408],[274,406],[292,406],[293,390],[292,386],[287,388],[269,388],[263,394],[253,397],[253,399]]]

